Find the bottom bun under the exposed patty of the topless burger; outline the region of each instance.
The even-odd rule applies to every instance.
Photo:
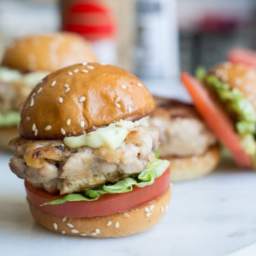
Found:
[[[203,155],[164,157],[170,161],[171,182],[200,178],[212,172],[220,161],[220,147],[209,148]]]

